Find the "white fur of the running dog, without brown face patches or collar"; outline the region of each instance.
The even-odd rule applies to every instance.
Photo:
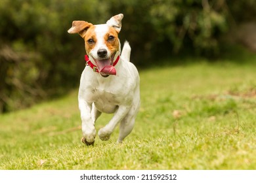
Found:
[[[97,40],[95,46],[91,50],[88,50],[85,46],[85,50],[93,63],[95,63],[94,58],[98,57],[98,50],[102,48],[107,50],[106,57],[110,58],[112,51],[106,45],[104,37],[111,26],[119,33],[122,18],[123,14],[118,14],[110,18],[107,24],[94,25],[94,33]],[[88,22],[86,23],[90,24]],[[88,27],[91,25],[93,24],[84,26]],[[73,22],[72,28],[68,30],[69,33],[79,33],[81,37],[85,37],[87,33],[85,31],[77,29],[75,21]],[[120,47],[118,46],[114,59],[121,52]],[[78,101],[81,112],[83,142],[86,144],[93,144],[95,141],[95,121],[102,112],[108,114],[114,113],[110,122],[98,131],[98,136],[102,141],[110,139],[110,135],[119,123],[119,138],[117,142],[122,142],[133,129],[140,107],[140,78],[135,65],[129,61],[130,54],[131,47],[128,42],[125,42],[120,59],[115,66],[116,75],[110,75],[105,78],[100,73],[95,73],[91,67],[85,67],[81,75]]]

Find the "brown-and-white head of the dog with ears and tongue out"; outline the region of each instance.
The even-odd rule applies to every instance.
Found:
[[[123,14],[117,14],[106,24],[93,25],[85,21],[74,21],[68,33],[79,33],[85,40],[85,51],[102,75],[115,75],[112,67],[120,53],[118,33],[121,31]]]

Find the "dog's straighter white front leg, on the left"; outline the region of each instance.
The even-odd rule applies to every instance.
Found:
[[[88,103],[81,98],[78,102],[82,120],[82,142],[87,145],[91,145],[95,142],[96,136],[95,121],[91,118],[92,103]]]

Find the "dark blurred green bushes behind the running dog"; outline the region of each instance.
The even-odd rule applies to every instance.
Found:
[[[121,42],[148,67],[172,56],[221,55],[224,35],[255,17],[253,0],[3,0],[0,4],[0,112],[66,93],[79,84],[83,41],[73,20],[102,24],[122,12]]]

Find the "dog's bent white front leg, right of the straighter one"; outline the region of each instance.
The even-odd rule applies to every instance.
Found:
[[[117,108],[116,113],[114,114],[113,118],[110,120],[110,122],[102,127],[99,131],[98,131],[98,137],[100,137],[100,139],[102,141],[108,141],[108,139],[110,139],[110,135],[112,134],[112,132],[114,131],[116,125],[123,120],[123,118],[125,117],[125,115],[129,112],[129,109],[131,108],[131,106],[127,106],[127,105],[120,105]]]

